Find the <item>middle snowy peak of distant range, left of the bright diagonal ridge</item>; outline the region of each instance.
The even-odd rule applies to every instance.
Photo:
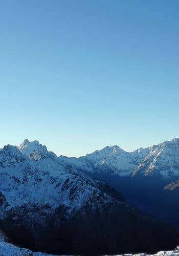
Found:
[[[134,152],[125,152],[119,146],[106,146],[84,157],[68,158],[60,156],[60,162],[75,165],[88,172],[107,172],[119,176],[129,176],[137,164],[147,156],[148,149],[140,148]]]

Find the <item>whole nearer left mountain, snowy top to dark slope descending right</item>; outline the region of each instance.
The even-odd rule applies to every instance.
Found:
[[[109,148],[103,154],[125,153]],[[17,245],[55,254],[150,252],[170,249],[179,238],[178,230],[28,140],[0,151],[0,228]]]

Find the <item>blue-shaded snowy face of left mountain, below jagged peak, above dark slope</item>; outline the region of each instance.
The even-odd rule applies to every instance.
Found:
[[[10,205],[33,202],[36,205],[48,204],[55,209],[60,203],[72,211],[80,208],[92,194],[93,197],[99,196],[99,184],[91,177],[72,168],[66,169],[40,151],[33,150],[29,155],[28,158],[10,145],[0,152],[0,189]],[[80,193],[74,197],[77,189]]]

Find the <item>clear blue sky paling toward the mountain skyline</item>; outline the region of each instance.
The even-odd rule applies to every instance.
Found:
[[[179,137],[179,2],[1,0],[0,147],[57,155]]]

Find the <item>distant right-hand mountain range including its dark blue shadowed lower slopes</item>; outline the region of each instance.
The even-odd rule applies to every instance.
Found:
[[[62,163],[105,181],[127,202],[179,227],[179,139],[133,152],[107,146],[84,157],[60,156]]]

